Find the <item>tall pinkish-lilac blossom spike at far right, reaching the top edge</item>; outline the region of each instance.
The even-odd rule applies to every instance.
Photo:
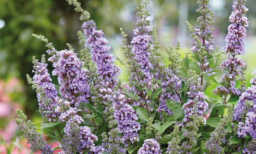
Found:
[[[228,34],[226,36],[226,46],[223,47],[227,57],[227,60],[220,63],[220,68],[227,70],[226,73],[222,74],[220,81],[223,86],[218,86],[212,92],[214,95],[218,95],[220,91],[226,89],[228,93],[234,95],[240,95],[239,89],[235,88],[236,76],[241,76],[241,69],[245,68],[245,63],[235,56],[244,55],[244,39],[246,36],[246,29],[248,27],[247,17],[245,16],[248,9],[245,7],[246,0],[236,0],[235,5],[233,5],[234,11],[232,11],[229,21],[232,22],[228,27]],[[222,97],[226,97],[227,94]]]

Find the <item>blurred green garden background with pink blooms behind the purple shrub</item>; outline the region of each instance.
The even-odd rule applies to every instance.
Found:
[[[196,0],[149,0],[147,6],[151,16],[151,28],[154,25],[160,42],[162,59],[168,64],[164,46],[175,48],[177,41],[181,43],[181,57],[189,52],[192,47],[192,38],[187,29],[186,21],[196,26],[196,19],[200,16],[196,12]],[[124,59],[122,53],[122,36],[120,27],[128,34],[128,40],[133,37],[132,30],[137,21],[135,0],[80,0],[84,10],[91,14],[98,29],[102,29],[104,37],[108,39],[109,46],[115,56]],[[228,21],[234,0],[210,0],[209,6],[215,14],[214,42],[220,50],[225,46]],[[251,72],[256,69],[255,51],[255,25],[256,1],[247,0],[249,9],[247,17],[250,22],[245,39],[245,56],[241,56],[247,64],[247,83]],[[22,109],[28,118],[36,123],[42,123],[38,110],[36,92],[26,81],[26,74],[33,76],[32,56],[37,59],[46,54],[45,43],[31,36],[32,33],[44,35],[52,42],[56,50],[68,48],[70,43],[75,51],[80,50],[77,31],[82,30],[80,14],[74,11],[74,6],[69,6],[65,0],[0,0],[0,153],[29,153],[28,145],[20,135],[20,128],[16,126],[16,108]],[[49,56],[46,54],[46,58]],[[219,63],[226,58],[222,55]],[[127,82],[129,73],[122,68],[119,78]],[[51,63],[48,65],[52,71]],[[217,65],[219,66],[219,65]],[[217,67],[218,68],[218,67]],[[56,77],[52,77],[56,82]],[[220,76],[216,76],[218,80]],[[206,89],[208,97],[212,96],[215,84]],[[250,86],[250,84],[247,84]],[[39,130],[41,131],[41,130]],[[58,144],[54,140],[53,146]]]

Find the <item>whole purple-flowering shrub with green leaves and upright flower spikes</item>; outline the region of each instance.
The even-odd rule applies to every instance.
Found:
[[[197,12],[202,14],[197,19],[199,26],[187,22],[194,39],[192,52],[181,59],[179,43],[177,51],[165,47],[170,61],[167,67],[157,51],[156,30],[149,29],[149,2],[136,0],[139,20],[130,43],[120,29],[128,60],[119,60],[129,68],[129,84],[117,78],[121,70],[114,65],[116,58],[103,32],[89,20],[89,13],[77,0],[67,1],[84,21],[86,38],[82,31],[77,33],[82,59],[69,44],[69,50],[56,51],[47,38],[33,34],[49,48],[52,75],[58,76],[59,83],[51,83],[45,55],[41,62],[33,58],[35,75],[27,78],[36,88],[39,111],[47,121],[39,129],[52,128],[49,136],[60,142],[57,147],[47,145],[17,109],[16,122],[33,152],[53,153],[60,148],[60,153],[67,154],[256,153],[256,71],[246,90],[246,65],[235,57],[245,53],[246,0],[236,0],[233,5],[223,48],[228,57],[220,64],[221,70],[216,69],[222,52],[213,48],[214,16],[207,6],[209,0],[197,1]],[[214,78],[217,73],[222,74],[219,81]],[[222,102],[205,97],[211,82],[218,84],[212,93]],[[230,104],[234,101],[235,107]]]

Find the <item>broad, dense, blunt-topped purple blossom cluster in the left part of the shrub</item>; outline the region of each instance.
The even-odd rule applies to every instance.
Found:
[[[56,53],[59,56],[59,91],[61,96],[72,103],[88,102],[90,86],[88,76],[81,69],[82,63],[73,51],[62,50]]]

